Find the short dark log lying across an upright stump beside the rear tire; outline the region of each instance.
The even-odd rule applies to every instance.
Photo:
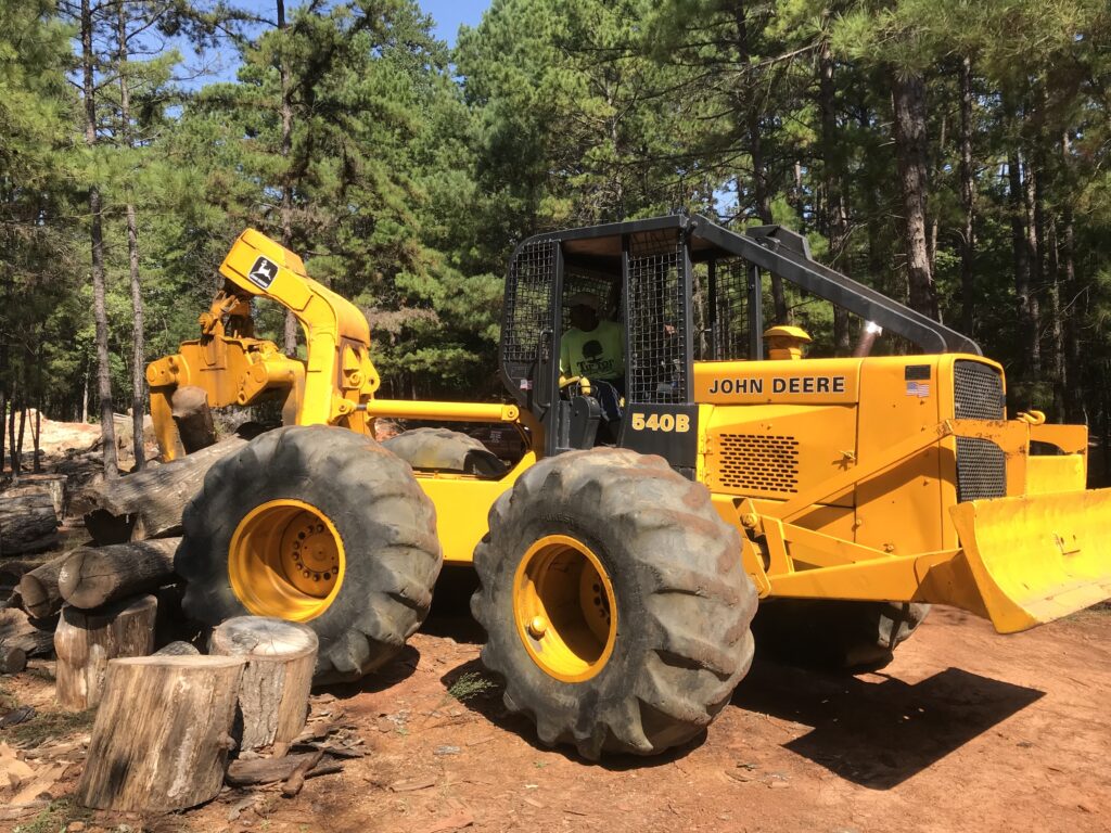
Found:
[[[180,538],[163,538],[78,548],[66,556],[58,575],[58,592],[74,608],[91,610],[158,590],[173,581],[173,553],[180,542]]]

